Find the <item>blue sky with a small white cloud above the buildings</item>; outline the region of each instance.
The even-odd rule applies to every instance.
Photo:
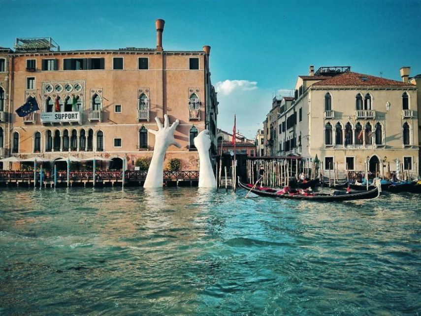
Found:
[[[400,80],[421,73],[420,0],[0,0],[0,46],[16,37],[51,36],[62,50],[210,45],[218,126],[253,137],[275,91],[288,95],[309,65]]]

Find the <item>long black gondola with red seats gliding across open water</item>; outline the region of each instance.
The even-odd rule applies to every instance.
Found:
[[[275,190],[267,187],[254,187],[253,184],[246,184],[238,179],[238,185],[248,191],[251,191],[260,196],[267,196],[272,198],[291,199],[291,200],[304,200],[304,201],[323,201],[323,202],[336,202],[336,201],[353,201],[377,198],[380,195],[377,186],[369,191],[346,193],[344,191],[336,191],[333,194],[318,193],[318,192],[305,192],[284,194],[283,190]]]

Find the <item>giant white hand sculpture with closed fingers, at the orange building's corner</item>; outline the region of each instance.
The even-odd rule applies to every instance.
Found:
[[[209,156],[209,148],[211,145],[209,131],[201,131],[193,141],[194,146],[197,148],[197,153],[199,154],[199,188],[215,188],[216,180]]]

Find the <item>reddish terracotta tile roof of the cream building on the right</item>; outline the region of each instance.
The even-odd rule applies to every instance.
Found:
[[[314,83],[313,86],[412,86],[403,81],[391,80],[358,72],[347,71],[329,79]]]

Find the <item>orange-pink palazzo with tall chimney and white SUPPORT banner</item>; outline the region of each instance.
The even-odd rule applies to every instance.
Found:
[[[148,129],[157,130],[155,117],[163,122],[164,114],[170,123],[180,120],[175,139],[182,145],[171,146],[167,159],[179,158],[183,170],[197,170],[193,139],[203,129],[210,131],[216,155],[218,101],[210,80],[210,46],[163,50],[163,27],[157,20],[156,48],[60,51],[51,38],[38,38],[17,39],[14,51],[1,50],[0,128],[10,131],[3,136],[1,156],[103,155],[115,168],[124,157],[131,169],[137,158],[152,156],[155,138]],[[40,110],[18,117],[15,110],[29,97]]]

